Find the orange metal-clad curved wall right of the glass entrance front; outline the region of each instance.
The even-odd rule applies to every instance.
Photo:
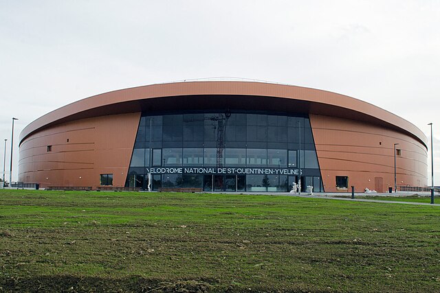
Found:
[[[349,177],[356,191],[394,187],[394,143],[397,185],[426,185],[426,148],[406,134],[338,117],[310,115],[325,191],[336,188],[336,176]],[[347,190],[348,191],[348,190]]]

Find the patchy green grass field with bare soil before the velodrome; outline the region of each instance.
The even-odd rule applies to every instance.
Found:
[[[0,191],[0,292],[440,292],[440,207]]]

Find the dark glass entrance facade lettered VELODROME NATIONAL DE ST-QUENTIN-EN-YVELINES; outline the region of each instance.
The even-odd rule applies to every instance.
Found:
[[[153,190],[323,191],[309,118],[283,113],[143,113],[126,187],[148,178]]]

